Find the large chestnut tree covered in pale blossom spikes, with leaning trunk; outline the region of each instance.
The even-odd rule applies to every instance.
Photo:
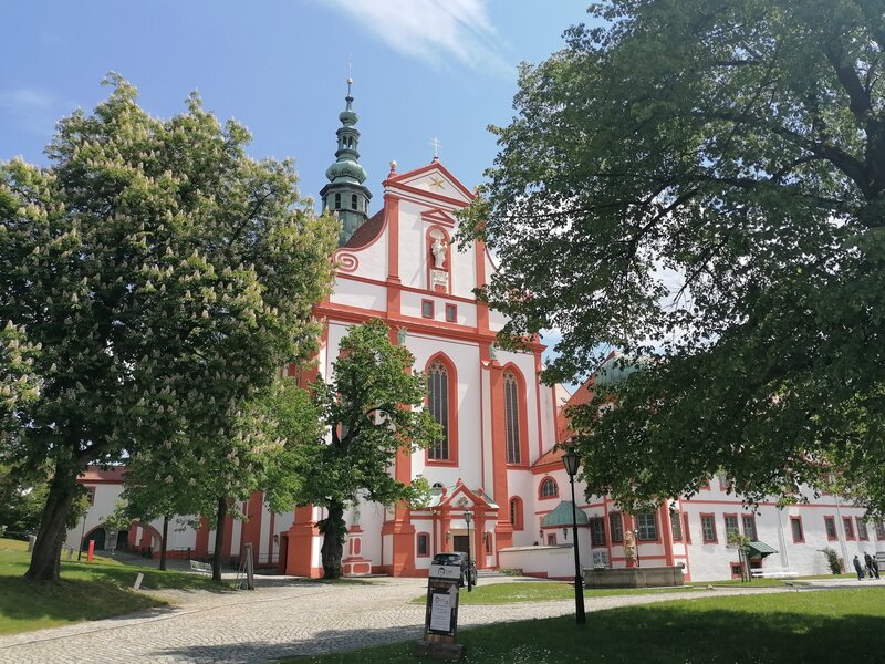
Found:
[[[196,95],[168,120],[116,75],[63,118],[50,166],[0,165],[0,320],[42,344],[39,400],[8,454],[52,479],[27,577],[58,578],[77,475],[188,439],[211,445],[279,366],[309,355],[335,222],[289,162],[246,155]]]

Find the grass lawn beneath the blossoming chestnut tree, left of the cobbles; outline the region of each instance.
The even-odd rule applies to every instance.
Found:
[[[205,577],[160,572],[95,558],[93,562],[62,562],[59,583],[30,583],[22,579],[30,563],[28,544],[0,539],[0,634],[55,627],[152,608],[165,602],[144,592],[160,588],[223,590]],[[135,575],[145,574],[143,591],[132,590]]]

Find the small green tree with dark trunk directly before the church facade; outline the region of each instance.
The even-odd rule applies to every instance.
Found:
[[[440,435],[424,408],[424,375],[413,371],[408,349],[391,343],[383,322],[352,328],[339,352],[330,381],[312,385],[327,438],[299,449],[296,459],[303,483],[300,502],[326,509],[319,527],[327,579],[341,575],[348,506],[358,499],[392,506],[429,497],[424,478],[398,481],[394,463],[398,452],[427,447]]]

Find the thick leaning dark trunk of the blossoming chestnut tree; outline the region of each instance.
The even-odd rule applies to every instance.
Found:
[[[29,581],[58,581],[62,544],[67,532],[67,515],[76,496],[80,469],[64,459],[55,463],[55,475],[49,484],[46,505],[37,533],[31,567],[24,573]],[[83,542],[81,542],[81,547]]]

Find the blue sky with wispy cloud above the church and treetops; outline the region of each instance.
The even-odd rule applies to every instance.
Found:
[[[0,3],[0,159],[42,155],[55,121],[106,96],[108,71],[168,117],[198,90],[253,134],[253,157],[293,157],[302,195],[334,160],[348,62],[361,163],[381,181],[433,157],[472,188],[513,115],[517,65],[562,48],[586,0],[121,0]]]

